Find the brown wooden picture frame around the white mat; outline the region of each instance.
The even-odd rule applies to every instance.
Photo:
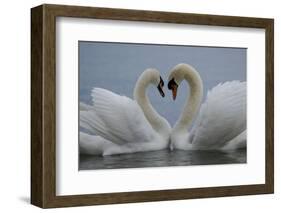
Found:
[[[265,184],[56,195],[56,17],[261,28],[266,32]],[[42,208],[266,194],[274,191],[274,21],[44,4],[31,9],[31,203]]]

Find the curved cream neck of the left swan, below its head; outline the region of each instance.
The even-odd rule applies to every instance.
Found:
[[[168,133],[167,130],[169,130],[170,125],[168,124],[166,119],[160,116],[157,111],[152,107],[146,94],[146,89],[149,86],[151,80],[152,79],[150,79],[149,76],[140,76],[134,89],[134,99],[139,104],[152,128],[157,132]]]

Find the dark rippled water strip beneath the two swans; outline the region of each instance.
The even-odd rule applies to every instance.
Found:
[[[80,155],[79,169],[118,169],[236,164],[247,162],[246,149],[233,151],[182,151],[160,150],[112,156]]]

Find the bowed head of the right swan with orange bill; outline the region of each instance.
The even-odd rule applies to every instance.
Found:
[[[170,71],[168,89],[172,90],[173,100],[176,99],[178,87],[187,75],[197,75],[195,69],[188,64],[178,64]]]

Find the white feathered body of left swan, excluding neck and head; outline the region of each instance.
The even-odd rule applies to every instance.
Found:
[[[163,143],[136,101],[101,88],[93,89],[92,98],[93,106],[80,104],[83,105],[80,126],[96,136],[80,133],[81,153],[112,155],[168,146],[168,141]]]

